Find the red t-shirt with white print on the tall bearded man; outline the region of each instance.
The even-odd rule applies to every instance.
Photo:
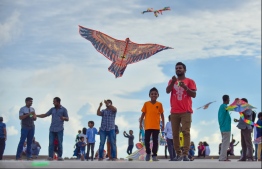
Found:
[[[171,83],[172,79],[169,80],[168,85]],[[184,84],[190,89],[190,90],[197,90],[196,83],[194,80],[185,78],[182,80]],[[174,87],[171,91],[170,96],[170,105],[171,105],[171,113],[186,113],[190,112],[193,113],[192,110],[192,99],[191,96],[187,95],[187,92],[182,87],[178,86],[178,80],[174,84]]]

